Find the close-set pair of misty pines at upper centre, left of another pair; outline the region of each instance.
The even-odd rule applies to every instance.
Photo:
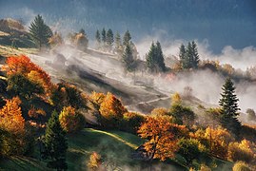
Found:
[[[156,45],[152,42],[151,47],[146,55],[146,63],[151,72],[165,71],[164,54],[159,42]]]

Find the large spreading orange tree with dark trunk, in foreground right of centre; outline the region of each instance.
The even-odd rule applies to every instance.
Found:
[[[178,150],[177,140],[172,131],[172,124],[166,119],[148,117],[140,126],[138,134],[147,140],[143,146],[148,152],[149,161],[174,158],[174,153]]]

